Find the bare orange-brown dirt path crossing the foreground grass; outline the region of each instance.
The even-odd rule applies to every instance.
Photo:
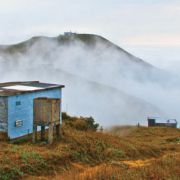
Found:
[[[150,166],[154,161],[158,159],[166,158],[169,155],[177,155],[179,153],[169,153],[158,158],[148,158],[139,160],[124,160],[124,161],[112,161],[109,163],[102,163],[97,166],[84,165],[82,163],[72,163],[69,171],[62,173],[57,172],[54,176],[28,176],[23,178],[25,180],[84,180],[93,179],[94,175],[103,172],[109,173],[119,170],[121,168],[142,168]]]

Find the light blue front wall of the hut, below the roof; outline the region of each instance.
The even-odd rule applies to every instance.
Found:
[[[33,100],[38,97],[61,98],[61,88],[8,97],[8,137],[10,139],[32,133]],[[20,105],[16,105],[18,101],[21,102]],[[16,127],[17,120],[22,120],[23,125]]]

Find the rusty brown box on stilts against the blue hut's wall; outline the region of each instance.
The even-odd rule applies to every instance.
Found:
[[[37,141],[37,126],[41,126],[41,140],[45,139],[45,126],[48,126],[48,143],[53,142],[53,131],[56,127],[57,139],[60,139],[60,99],[34,99],[33,142]]]

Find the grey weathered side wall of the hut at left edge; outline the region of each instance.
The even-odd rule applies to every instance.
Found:
[[[0,97],[0,132],[7,131],[7,97]]]

